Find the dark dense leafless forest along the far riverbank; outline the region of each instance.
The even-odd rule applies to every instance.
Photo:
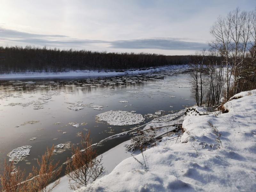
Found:
[[[46,47],[0,47],[0,73],[20,71],[125,70],[187,64],[189,56],[107,53]]]

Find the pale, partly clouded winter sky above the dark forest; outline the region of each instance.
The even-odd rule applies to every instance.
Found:
[[[256,0],[1,0],[0,46],[187,55],[236,7]]]

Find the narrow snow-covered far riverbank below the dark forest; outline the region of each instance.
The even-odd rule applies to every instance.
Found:
[[[108,70],[108,71],[90,71],[90,70],[71,70],[67,72],[19,72],[0,74],[0,79],[14,78],[45,78],[45,77],[90,77],[90,76],[120,76],[120,75],[136,75],[140,73],[149,73],[155,71],[170,70],[172,68],[184,68],[187,65],[170,65],[158,68],[143,68],[130,70]]]

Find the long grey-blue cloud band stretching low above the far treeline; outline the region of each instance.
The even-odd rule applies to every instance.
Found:
[[[63,35],[33,34],[0,27],[0,38],[15,45],[36,45],[51,47],[90,48],[102,46],[114,49],[158,49],[158,50],[202,50],[207,48],[206,43],[191,42],[175,38],[144,38],[132,40],[88,40],[76,39]],[[100,44],[100,45],[99,45]]]

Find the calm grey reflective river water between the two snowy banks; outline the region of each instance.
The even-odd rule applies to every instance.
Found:
[[[70,142],[78,143],[81,132],[90,130],[96,143],[136,126],[96,121],[95,116],[106,111],[141,114],[144,124],[193,105],[188,78],[186,69],[177,68],[116,77],[1,80],[0,169],[7,154],[21,146],[32,146],[30,155],[17,164],[29,172],[46,147],[65,144],[55,153],[62,164],[71,156]],[[127,139],[129,136],[108,140],[97,146],[98,153]]]

